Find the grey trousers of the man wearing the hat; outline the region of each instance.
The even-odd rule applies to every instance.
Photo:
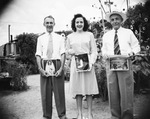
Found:
[[[112,119],[133,119],[134,79],[130,59],[128,71],[111,71],[107,60],[106,72]]]

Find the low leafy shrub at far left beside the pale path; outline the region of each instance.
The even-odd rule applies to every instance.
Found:
[[[10,85],[13,90],[27,90],[27,74],[29,69],[26,68],[26,65],[18,63],[16,61],[7,61],[6,66],[9,75],[12,76]]]

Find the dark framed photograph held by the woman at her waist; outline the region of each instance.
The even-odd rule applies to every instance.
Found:
[[[88,54],[75,55],[75,62],[77,72],[85,72],[91,70]]]

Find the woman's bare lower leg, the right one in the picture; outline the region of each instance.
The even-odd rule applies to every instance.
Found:
[[[92,95],[87,95],[88,119],[93,119],[92,115]]]

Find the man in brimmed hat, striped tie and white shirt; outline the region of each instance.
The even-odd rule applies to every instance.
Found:
[[[124,13],[112,12],[106,15],[106,19],[113,26],[112,30],[104,34],[102,46],[102,55],[106,59],[108,95],[112,119],[133,119],[134,79],[131,59],[128,59],[129,70],[127,71],[110,70],[109,61],[111,56],[125,55],[131,57],[138,53],[140,51],[139,42],[130,29],[121,27],[126,20]],[[114,44],[116,42],[114,39],[117,39],[117,46]],[[116,47],[117,54],[115,54]]]

